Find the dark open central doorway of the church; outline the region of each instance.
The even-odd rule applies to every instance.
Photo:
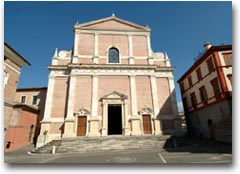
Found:
[[[122,106],[108,105],[108,135],[122,134]]]

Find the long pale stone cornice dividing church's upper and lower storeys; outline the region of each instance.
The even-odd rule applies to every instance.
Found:
[[[173,77],[173,67],[157,65],[112,65],[112,64],[69,64],[67,66],[52,65],[48,67],[49,77],[68,77],[79,75],[96,76],[155,76],[161,78]]]

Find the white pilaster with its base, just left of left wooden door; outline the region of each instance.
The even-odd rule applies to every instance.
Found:
[[[72,71],[73,72],[73,71]],[[76,76],[70,76],[68,87],[68,102],[67,102],[67,117],[65,118],[64,124],[64,134],[63,137],[74,137],[74,103],[75,103],[75,86],[76,86]]]

